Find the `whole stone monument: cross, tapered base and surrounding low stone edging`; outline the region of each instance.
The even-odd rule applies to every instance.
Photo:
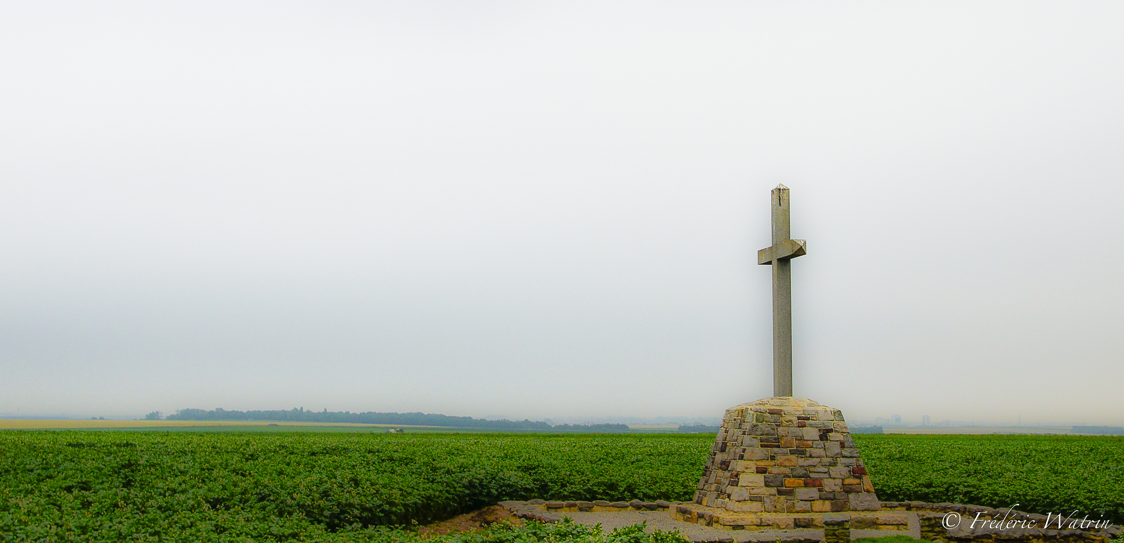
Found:
[[[773,397],[726,409],[695,499],[676,504],[536,499],[500,505],[523,518],[558,522],[572,515],[590,526],[601,526],[605,513],[667,510],[671,522],[692,524],[683,534],[694,542],[851,543],[896,534],[940,543],[1107,543],[1117,536],[1120,527],[1107,527],[1107,522],[1104,527],[1062,530],[1059,517],[1054,530],[1045,525],[1046,517],[1012,508],[878,500],[843,414],[792,396],[789,271],[790,261],[803,256],[807,244],[789,235],[788,203],[788,188],[773,189],[772,245],[758,252],[758,263],[771,265],[773,274]],[[961,516],[975,522],[961,523]],[[998,523],[996,528],[996,523],[980,521],[1015,522],[1008,517],[1040,524],[1007,530],[1009,524]],[[631,516],[618,525],[652,519]],[[1075,512],[1066,523],[1086,519]],[[754,532],[733,532],[746,530]]]

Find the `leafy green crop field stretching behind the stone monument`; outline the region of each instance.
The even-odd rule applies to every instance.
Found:
[[[711,440],[0,432],[0,541],[413,541],[382,526],[504,499],[690,499]],[[855,440],[883,499],[1124,521],[1121,437]]]

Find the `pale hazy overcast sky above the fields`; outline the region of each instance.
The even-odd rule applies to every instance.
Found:
[[[0,414],[1124,424],[1124,3],[0,3]]]

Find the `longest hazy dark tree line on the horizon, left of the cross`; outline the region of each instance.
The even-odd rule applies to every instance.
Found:
[[[355,423],[355,424],[392,424],[402,426],[446,426],[453,428],[489,428],[489,429],[531,429],[561,432],[627,432],[626,424],[559,424],[551,426],[543,422],[532,420],[488,420],[484,418],[452,417],[448,415],[426,413],[351,413],[305,410],[293,407],[289,410],[252,410],[237,411],[217,409],[180,409],[166,417],[167,420],[278,420],[300,423]]]

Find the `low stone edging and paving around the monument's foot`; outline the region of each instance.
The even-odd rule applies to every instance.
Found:
[[[694,503],[672,501],[501,501],[501,507],[514,516],[540,522],[560,522],[565,513],[623,513],[667,510],[672,519],[731,531],[731,537],[717,536],[719,543],[734,541],[758,541],[777,543],[847,543],[855,537],[885,535],[908,535],[942,543],[967,543],[970,541],[1010,541],[1025,543],[1105,543],[1121,536],[1121,526],[1094,527],[1088,522],[1086,528],[1070,528],[1071,523],[1084,518],[1062,518],[1062,528],[1057,528],[1058,517],[1050,517],[1050,526],[1044,527],[1045,515],[1028,514],[1017,509],[995,509],[990,507],[961,504],[931,504],[925,501],[883,501],[879,510],[842,512],[824,514],[801,513],[731,513]],[[942,523],[945,515],[960,515],[959,524],[946,528]],[[997,530],[1000,521],[1034,521],[1035,527],[1005,524]],[[977,527],[971,528],[972,521]],[[991,526],[989,526],[989,524]],[[1003,525],[1003,524],[1000,524]],[[808,539],[795,534],[776,534],[778,531],[815,528],[823,531],[822,539]],[[735,533],[736,531],[736,533]],[[752,532],[750,532],[752,531]],[[750,533],[746,533],[750,532]],[[754,535],[751,535],[753,533]]]

